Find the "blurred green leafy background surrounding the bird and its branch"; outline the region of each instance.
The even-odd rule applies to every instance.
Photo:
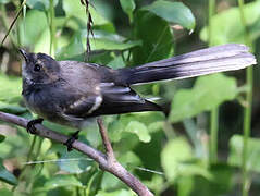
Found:
[[[90,0],[88,10],[79,0],[0,0],[0,111],[36,118],[22,100],[18,48],[113,69],[227,42],[259,59],[259,8],[260,0]],[[158,196],[259,195],[259,72],[135,86],[171,112],[104,117],[116,158]],[[135,195],[75,150],[2,121],[0,134],[0,195]],[[79,139],[102,150],[94,120]]]

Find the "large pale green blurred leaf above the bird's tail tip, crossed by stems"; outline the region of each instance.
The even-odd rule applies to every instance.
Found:
[[[247,3],[243,7],[246,24],[249,27],[251,41],[260,36],[260,1]],[[223,23],[224,21],[224,23]],[[245,42],[245,27],[240,21],[239,8],[232,8],[212,17],[212,44],[222,45],[226,42]],[[235,30],[234,30],[235,29]],[[208,41],[208,27],[200,32],[200,38]]]

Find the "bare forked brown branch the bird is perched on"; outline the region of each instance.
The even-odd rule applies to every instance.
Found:
[[[4,112],[0,112],[0,121],[16,124],[25,128],[27,126],[27,123],[29,122],[28,120],[24,118],[4,113]],[[114,157],[112,146],[109,142],[107,130],[104,128],[101,119],[98,119],[98,125],[99,125],[100,134],[103,139],[103,145],[107,151],[106,155],[79,140],[75,140],[72,144],[72,147],[87,155],[88,157],[92,158],[96,162],[99,163],[99,167],[102,170],[108,171],[112,173],[113,175],[115,175],[116,177],[119,177],[139,196],[153,196],[153,194],[138,179],[136,179],[133,174],[131,174],[125,168],[123,168],[117,162],[117,160]],[[66,135],[51,131],[42,126],[41,124],[36,124],[35,127],[36,127],[35,135],[38,135],[40,137],[49,138],[51,140],[54,140],[61,144],[64,144],[69,139]]]

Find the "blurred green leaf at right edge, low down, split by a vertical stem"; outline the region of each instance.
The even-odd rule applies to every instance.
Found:
[[[243,136],[233,135],[230,140],[230,156],[228,164],[240,167],[243,158]],[[260,172],[260,139],[259,138],[249,138],[247,143],[247,162],[246,167],[250,171]]]

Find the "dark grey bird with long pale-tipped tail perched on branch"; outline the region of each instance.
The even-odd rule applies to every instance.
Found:
[[[160,105],[139,96],[133,85],[240,70],[257,63],[249,48],[242,44],[210,47],[117,70],[96,63],[55,61],[48,54],[24,49],[20,52],[25,60],[22,95],[26,107],[40,117],[32,120],[27,130],[33,132],[42,120],[73,126],[77,132],[65,143],[69,150],[89,118],[165,112]]]

